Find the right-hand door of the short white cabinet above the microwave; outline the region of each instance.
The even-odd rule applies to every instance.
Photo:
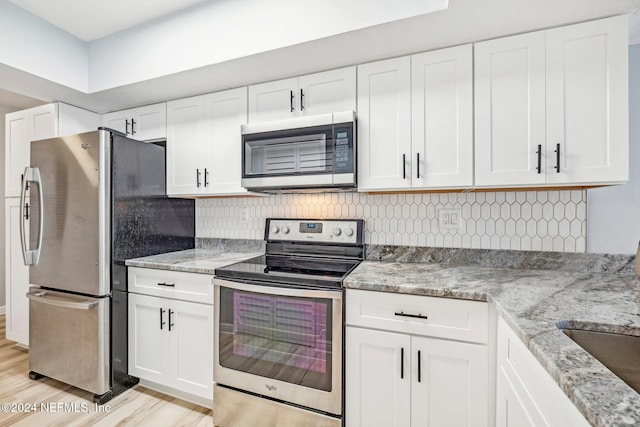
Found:
[[[300,115],[356,110],[356,67],[302,76],[298,83]]]

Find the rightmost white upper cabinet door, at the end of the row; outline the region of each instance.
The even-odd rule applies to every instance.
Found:
[[[547,182],[629,179],[627,26],[619,16],[547,31]]]

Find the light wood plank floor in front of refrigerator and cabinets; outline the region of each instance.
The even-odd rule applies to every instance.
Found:
[[[28,352],[5,338],[5,315],[0,316],[0,404],[20,409],[6,412],[7,405],[0,405],[0,426],[213,426],[210,409],[139,385],[107,402],[103,409],[109,412],[97,412],[92,396],[49,378],[29,379]],[[41,411],[41,402],[59,412]],[[34,403],[37,411],[24,411]]]

